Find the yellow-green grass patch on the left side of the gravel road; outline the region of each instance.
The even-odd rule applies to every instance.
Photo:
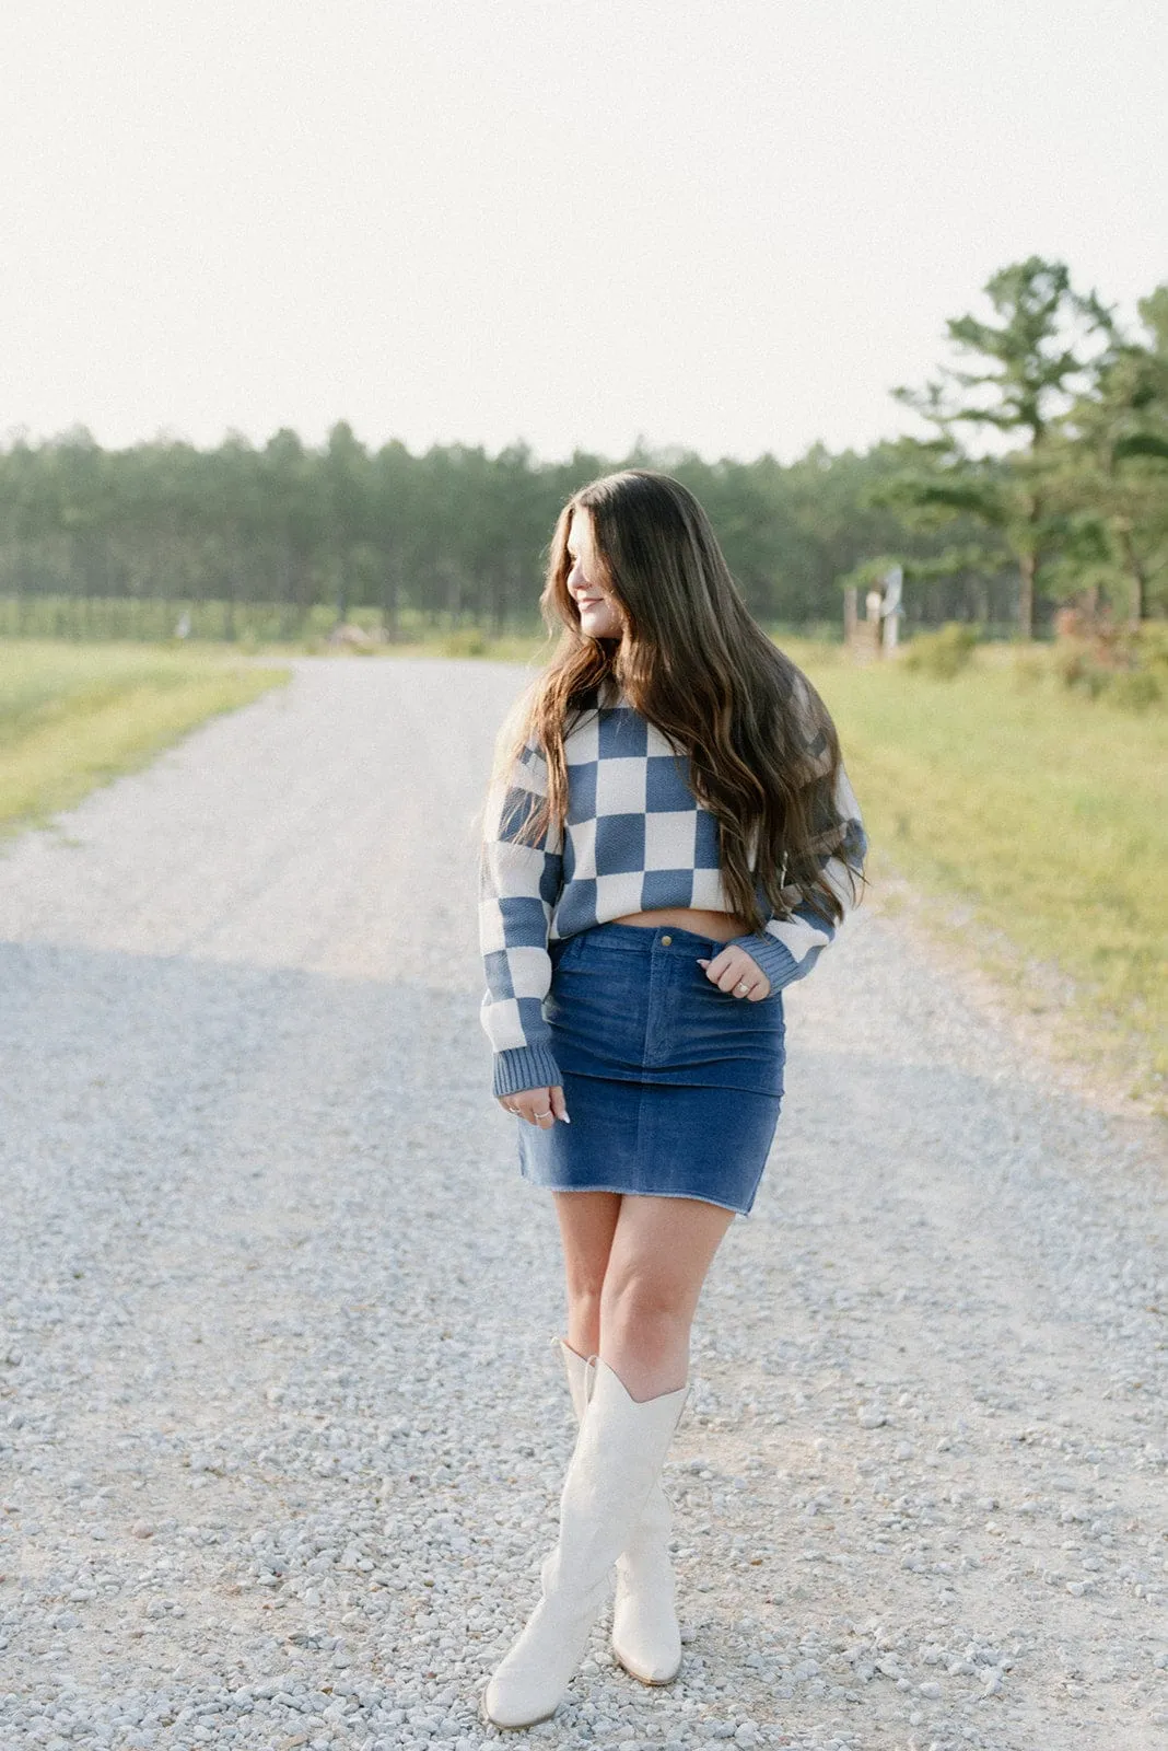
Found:
[[[0,639],[0,839],[287,681],[222,646]]]

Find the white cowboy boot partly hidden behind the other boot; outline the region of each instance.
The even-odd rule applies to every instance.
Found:
[[[587,1362],[563,1340],[560,1345],[572,1406],[584,1415]],[[633,1534],[617,1557],[617,1595],[612,1606],[612,1651],[642,1684],[668,1684],[682,1667],[682,1632],[670,1562],[673,1513],[657,1478]]]

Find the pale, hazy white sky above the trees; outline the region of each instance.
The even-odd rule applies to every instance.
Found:
[[[0,436],[921,431],[1065,261],[1168,280],[1163,0],[3,0]]]

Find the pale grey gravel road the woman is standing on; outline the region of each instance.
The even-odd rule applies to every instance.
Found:
[[[0,856],[2,1751],[505,1737],[574,1432],[477,1019],[523,671],[294,667]],[[789,1045],[666,1469],[682,1676],[601,1623],[532,1737],[1166,1746],[1151,1124],[879,902]]]

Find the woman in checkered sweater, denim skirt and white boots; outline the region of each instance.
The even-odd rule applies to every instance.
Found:
[[[678,482],[574,494],[540,606],[560,644],[500,732],[481,858],[483,1026],[563,1238],[577,1445],[542,1597],[483,1698],[554,1712],[615,1564],[615,1658],[680,1665],[659,1473],[689,1329],[778,1121],[783,986],[857,900],[832,721],[750,618]]]

